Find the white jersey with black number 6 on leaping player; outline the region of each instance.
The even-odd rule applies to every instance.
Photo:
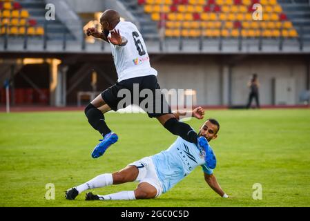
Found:
[[[128,40],[126,46],[115,46],[110,43],[117,70],[117,81],[146,75],[156,76],[157,71],[150,65],[144,39],[137,27],[129,21],[119,21],[115,29]]]

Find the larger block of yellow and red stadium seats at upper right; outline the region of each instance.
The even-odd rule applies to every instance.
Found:
[[[294,38],[298,32],[276,0],[137,0],[166,37]],[[262,20],[253,19],[255,3]]]

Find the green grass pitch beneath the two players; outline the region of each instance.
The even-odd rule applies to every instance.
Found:
[[[206,111],[221,124],[211,142],[217,155],[215,175],[231,199],[220,198],[196,168],[173,189],[153,200],[75,201],[64,191],[101,173],[153,155],[175,136],[144,114],[106,114],[119,135],[103,157],[92,159],[100,138],[83,111],[0,113],[0,206],[309,206],[310,111]],[[189,124],[199,128],[203,121]],[[55,200],[46,200],[46,184],[55,184]],[[262,184],[262,200],[253,200],[253,184]],[[136,182],[95,189],[108,194],[133,190]]]

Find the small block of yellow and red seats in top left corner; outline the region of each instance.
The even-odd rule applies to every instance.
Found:
[[[44,28],[31,19],[28,10],[12,0],[0,0],[0,35],[43,36]],[[26,31],[27,30],[27,31]]]

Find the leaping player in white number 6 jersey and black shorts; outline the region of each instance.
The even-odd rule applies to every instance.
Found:
[[[144,89],[151,90],[153,93],[151,105],[153,109],[150,111],[150,108],[146,110],[145,107],[140,106],[142,99],[133,97],[135,95],[130,98],[131,104],[137,104],[144,108],[149,117],[156,117],[174,135],[197,144],[197,133],[188,124],[178,121],[181,114],[174,115],[171,113],[171,108],[162,93],[159,94],[159,99],[157,98],[159,93],[157,89],[160,89],[157,83],[157,71],[150,66],[146,45],[137,27],[131,22],[120,21],[119,13],[115,10],[104,11],[100,23],[101,32],[95,28],[88,28],[86,34],[103,39],[110,44],[118,80],[116,84],[104,90],[85,108],[88,122],[103,137],[100,140],[101,142],[95,146],[92,157],[100,157],[111,144],[117,142],[118,136],[106,125],[104,113],[125,108],[126,106],[119,107],[119,102],[124,99],[124,95],[119,96],[118,93],[120,90],[126,89],[133,95],[134,85],[138,85],[139,93]],[[160,104],[159,108],[158,103]]]

